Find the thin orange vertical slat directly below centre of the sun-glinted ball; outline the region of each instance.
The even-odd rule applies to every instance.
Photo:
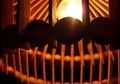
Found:
[[[74,44],[71,45],[71,84],[74,82]]]

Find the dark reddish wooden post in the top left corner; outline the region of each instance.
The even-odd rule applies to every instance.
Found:
[[[13,0],[0,0],[1,1],[1,29],[7,25],[13,24]]]

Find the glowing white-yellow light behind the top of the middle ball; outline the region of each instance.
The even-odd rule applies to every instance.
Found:
[[[62,0],[58,6],[57,18],[73,17],[82,21],[82,0]]]

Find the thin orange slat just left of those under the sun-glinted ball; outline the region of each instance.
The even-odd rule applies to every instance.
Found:
[[[55,84],[55,64],[54,64],[54,57],[55,57],[56,49],[52,49],[52,84]]]

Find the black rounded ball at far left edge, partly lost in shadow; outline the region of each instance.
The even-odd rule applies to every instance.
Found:
[[[2,47],[7,49],[18,48],[18,28],[15,24],[7,25],[2,30]]]

